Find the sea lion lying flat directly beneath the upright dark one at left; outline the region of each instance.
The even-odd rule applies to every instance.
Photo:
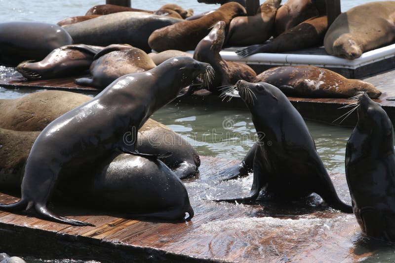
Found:
[[[23,166],[39,134],[0,128],[0,189],[20,190]],[[115,153],[98,165],[83,166],[80,174],[84,176],[78,183],[75,177],[58,183],[53,199],[128,216],[166,220],[182,220],[185,212],[188,220],[194,216],[185,186],[161,161]]]

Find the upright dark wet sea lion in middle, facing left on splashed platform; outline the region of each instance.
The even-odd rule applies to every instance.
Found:
[[[332,208],[352,213],[336,194],[300,113],[268,83],[240,80],[235,89],[252,115],[258,134],[250,195],[217,201],[255,200],[261,189],[270,197],[295,199],[318,194]]]

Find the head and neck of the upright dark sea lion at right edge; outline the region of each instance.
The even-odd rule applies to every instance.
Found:
[[[380,138],[380,141],[376,139],[373,140],[374,143],[378,143],[375,147],[379,147],[382,151],[386,149],[385,152],[393,152],[394,129],[385,110],[379,103],[371,100],[365,92],[354,98],[356,99],[358,114],[356,129],[359,130],[360,133],[367,134],[374,138]]]

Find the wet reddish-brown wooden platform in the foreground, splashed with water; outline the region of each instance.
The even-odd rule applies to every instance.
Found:
[[[140,221],[57,205],[56,212],[96,225],[71,227],[0,212],[0,250],[101,262],[327,263],[362,261],[391,248],[363,238],[353,214],[330,209],[317,196],[285,203],[205,200],[246,194],[252,178],[219,182],[217,172],[236,162],[210,157],[201,161],[200,175],[185,181],[195,210],[190,222]],[[340,198],[350,203],[345,176],[331,178]],[[1,203],[15,200],[0,194]]]

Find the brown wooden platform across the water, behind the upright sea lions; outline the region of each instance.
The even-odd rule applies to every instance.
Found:
[[[379,102],[393,124],[395,125],[395,69],[388,70],[370,77],[362,78],[363,80],[372,83],[377,89],[383,92],[379,99],[375,101]],[[53,90],[66,90],[73,92],[82,92],[97,94],[100,90],[92,87],[79,86],[74,83],[73,78],[61,78],[52,80],[36,80],[36,81],[25,81],[21,75],[16,74],[15,76],[8,78],[0,77],[0,87],[10,89],[53,89]],[[332,123],[335,119],[346,113],[349,108],[339,109],[346,105],[348,99],[311,99],[311,98],[295,98],[288,97],[296,109],[301,115],[310,120],[324,122],[328,124],[336,124],[342,126],[355,126],[356,114],[350,115],[344,122],[340,123],[340,120],[336,123]],[[246,109],[246,106],[242,99],[233,98],[230,102],[222,100],[216,95],[212,95],[207,91],[197,91],[194,95],[184,97],[182,99],[176,99],[174,103],[187,103],[193,105],[204,105],[204,106],[217,106],[222,108],[240,108]]]

